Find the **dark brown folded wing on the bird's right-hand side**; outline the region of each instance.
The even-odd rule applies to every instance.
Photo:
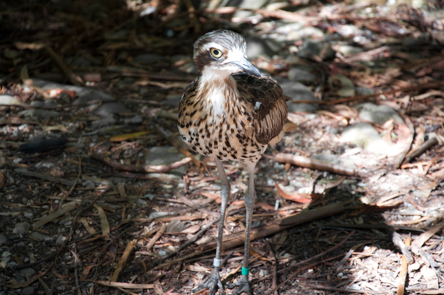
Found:
[[[233,75],[239,96],[255,110],[256,140],[268,144],[281,133],[288,108],[278,82],[269,76]]]

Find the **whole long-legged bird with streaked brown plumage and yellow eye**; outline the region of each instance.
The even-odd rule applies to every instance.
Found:
[[[230,185],[222,161],[244,163],[250,172],[245,196],[246,239],[242,276],[229,288],[234,295],[251,295],[248,282],[248,258],[253,207],[256,198],[254,168],[268,145],[276,144],[283,134],[287,104],[275,79],[261,74],[245,54],[245,39],[234,32],[217,30],[194,43],[193,60],[199,76],[191,82],[179,105],[178,128],[182,139],[196,152],[213,157],[221,176],[221,220],[214,270],[199,287],[214,295],[223,294],[219,275],[223,217]]]

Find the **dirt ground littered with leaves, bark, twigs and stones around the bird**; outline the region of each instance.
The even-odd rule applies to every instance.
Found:
[[[218,28],[287,38],[252,59],[292,81],[296,123],[255,170],[253,293],[444,294],[444,4],[286,3],[247,16],[205,1],[0,4],[0,295],[192,294],[209,275],[221,184],[180,142],[177,104],[193,41]],[[300,55],[308,41],[282,33],[295,17],[333,40],[331,58]],[[346,26],[365,34],[338,37]],[[289,94],[296,83],[315,100]],[[229,284],[248,175],[224,165]]]

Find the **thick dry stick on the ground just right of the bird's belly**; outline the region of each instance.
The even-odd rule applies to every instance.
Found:
[[[316,159],[310,159],[303,156],[292,155],[289,153],[282,153],[282,152],[278,153],[275,158],[276,161],[280,163],[290,163],[304,168],[316,169],[320,171],[327,171],[331,173],[348,175],[348,176],[357,175],[355,170],[342,165],[332,164]]]

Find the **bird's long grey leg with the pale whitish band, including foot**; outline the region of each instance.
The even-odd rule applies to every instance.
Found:
[[[221,198],[222,198],[222,204],[221,204],[221,219],[219,220],[219,234],[218,234],[218,243],[216,248],[216,257],[214,258],[214,269],[210,277],[208,277],[206,280],[202,282],[196,289],[194,289],[192,292],[197,292],[199,290],[202,290],[203,288],[208,288],[210,290],[209,295],[214,295],[216,293],[216,287],[219,287],[219,293],[224,294],[221,276],[219,274],[219,268],[221,267],[221,247],[222,247],[222,235],[223,235],[223,223],[225,222],[225,211],[226,211],[226,205],[228,203],[228,199],[230,197],[230,183],[228,182],[228,179],[226,178],[225,169],[223,168],[223,164],[221,160],[215,159],[216,166],[218,167],[219,176],[221,177]],[[254,190],[254,189],[253,189]],[[254,201],[253,201],[254,203]],[[248,212],[248,211],[247,211]],[[248,213],[247,213],[248,214]],[[251,221],[250,221],[251,226]],[[250,240],[250,239],[249,239]],[[248,265],[248,262],[247,262]]]

